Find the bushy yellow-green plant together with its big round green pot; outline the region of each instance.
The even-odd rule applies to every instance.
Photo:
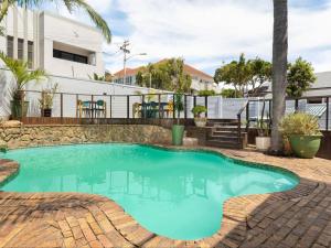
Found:
[[[284,117],[280,123],[284,136],[288,137],[293,153],[303,159],[316,157],[321,144],[322,133],[318,119],[305,112]]]

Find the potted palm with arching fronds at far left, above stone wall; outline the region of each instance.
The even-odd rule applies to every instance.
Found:
[[[29,71],[28,62],[17,61],[0,52],[0,58],[14,76],[15,84],[12,89],[11,117],[20,119],[26,117],[29,101],[25,100],[24,86],[31,80],[40,80],[45,77],[42,69]]]

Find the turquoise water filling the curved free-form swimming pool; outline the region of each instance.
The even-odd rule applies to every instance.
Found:
[[[229,197],[286,191],[298,183],[290,173],[242,165],[215,153],[139,144],[33,148],[0,157],[21,163],[3,191],[105,195],[150,231],[177,239],[217,231]]]

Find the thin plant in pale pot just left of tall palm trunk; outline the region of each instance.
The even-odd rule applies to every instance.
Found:
[[[269,114],[267,114],[267,118],[265,119],[265,109],[266,109],[266,101],[264,99],[261,118],[257,119],[256,121],[258,136],[255,138],[256,149],[263,152],[268,151],[269,148],[271,147]]]

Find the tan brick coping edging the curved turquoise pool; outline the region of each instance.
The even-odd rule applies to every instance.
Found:
[[[266,201],[273,203],[281,200],[293,200],[303,197],[313,192],[318,186],[318,182],[311,182],[306,179],[306,174],[302,175],[300,170],[295,170],[293,168],[288,168],[286,164],[282,166],[280,164],[269,164],[261,163],[258,161],[249,161],[247,158],[241,158],[236,155],[234,150],[214,149],[210,147],[171,147],[163,144],[142,144],[152,145],[160,149],[171,149],[171,150],[182,150],[182,151],[204,151],[213,152],[218,155],[228,158],[231,160],[237,161],[238,163],[249,164],[253,166],[273,168],[280,171],[290,172],[299,177],[299,183],[296,187],[285,191],[268,194],[255,194],[255,195],[243,195],[228,198],[223,204],[223,220],[218,231],[210,237],[197,239],[197,240],[175,240],[152,234],[151,231],[145,229],[139,225],[138,222],[134,219],[129,214],[127,214],[118,204],[102,195],[92,195],[83,193],[11,193],[11,192],[0,192],[0,198],[40,198],[40,200],[51,200],[54,197],[73,197],[76,200],[86,200],[95,202],[96,204],[102,204],[102,208],[105,211],[111,225],[118,231],[118,234],[125,238],[129,244],[134,246],[147,246],[153,247],[159,244],[163,246],[172,247],[179,246],[180,244],[189,247],[214,247],[222,242],[229,247],[238,247],[238,240],[233,239],[229,233],[236,234],[241,237],[245,237],[247,234],[247,228],[249,228],[249,218],[252,213],[258,207],[260,203]],[[239,154],[239,153],[238,153]],[[0,161],[0,183],[6,183],[8,180],[12,179],[19,172],[19,164],[10,160]],[[130,227],[136,226],[141,231],[140,235],[134,235]],[[167,244],[167,245],[166,245]]]

